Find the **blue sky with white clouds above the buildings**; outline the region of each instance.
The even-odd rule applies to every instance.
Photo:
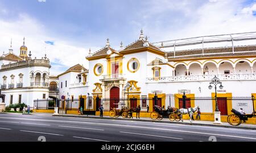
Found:
[[[50,75],[76,64],[88,68],[92,52],[149,42],[256,31],[256,0],[0,0],[0,53],[10,41],[19,55],[23,37],[32,57],[47,54]],[[256,43],[255,43],[256,44]]]

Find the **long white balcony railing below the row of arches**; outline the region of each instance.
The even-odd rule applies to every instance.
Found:
[[[228,74],[228,75],[193,75],[193,76],[171,76],[171,77],[147,77],[147,83],[154,82],[189,82],[189,81],[210,81],[214,76],[225,80],[256,80],[256,73]]]

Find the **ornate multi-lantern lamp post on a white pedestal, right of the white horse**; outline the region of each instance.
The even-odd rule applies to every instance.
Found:
[[[217,85],[220,84],[219,88],[223,89],[224,86],[222,86],[222,83],[220,81],[219,78],[217,78],[216,76],[214,76],[214,78],[212,78],[212,81],[210,81],[210,85],[208,86],[209,89],[212,89],[212,85],[214,85],[215,88],[215,112],[214,112],[214,123],[221,123],[221,117],[220,117],[220,111],[218,110],[218,102],[217,102]]]

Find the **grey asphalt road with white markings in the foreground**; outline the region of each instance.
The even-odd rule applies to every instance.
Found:
[[[43,136],[43,137],[41,137]],[[256,131],[112,119],[0,114],[1,142],[256,142]]]

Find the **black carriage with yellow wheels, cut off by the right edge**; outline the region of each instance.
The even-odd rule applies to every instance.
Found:
[[[254,111],[252,114],[241,114],[239,111],[232,109],[232,113],[228,116],[228,123],[230,125],[238,126],[241,125],[242,121],[247,121],[248,118],[256,117],[256,111]]]

